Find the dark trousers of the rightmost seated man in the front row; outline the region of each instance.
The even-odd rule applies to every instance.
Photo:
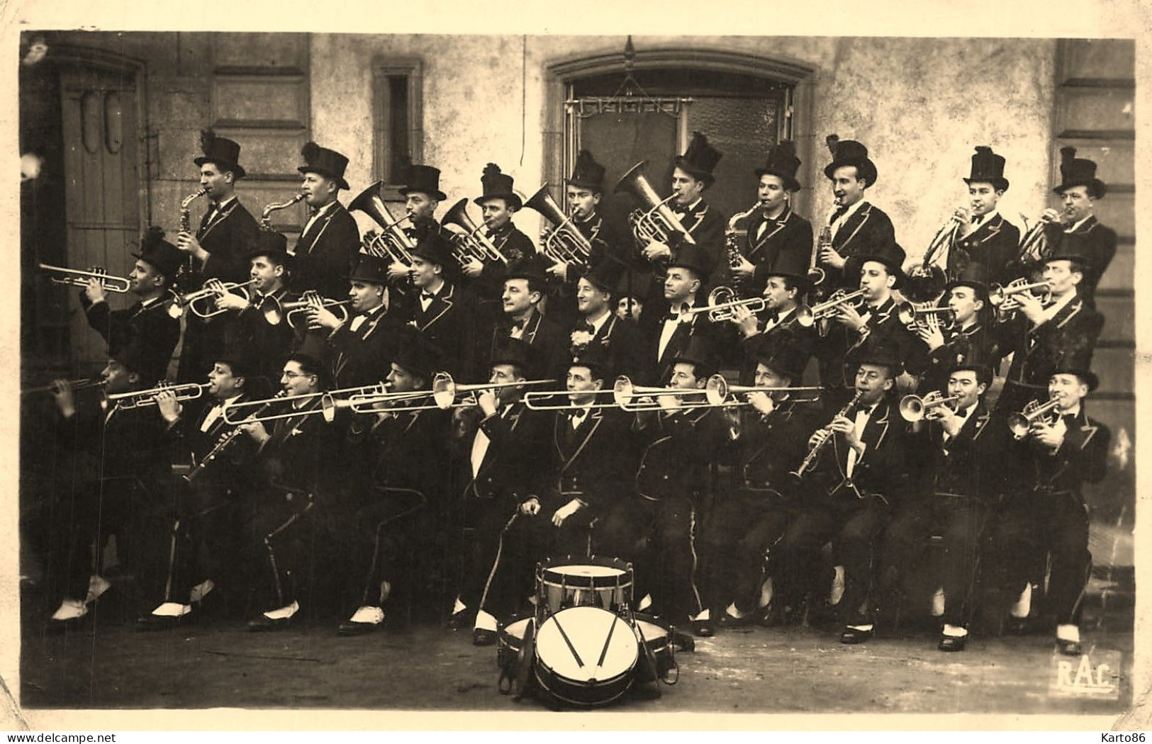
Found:
[[[1001,507],[988,530],[988,563],[1006,577],[1013,598],[1051,560],[1045,605],[1058,623],[1078,624],[1092,568],[1089,509],[1074,493],[1026,494]],[[1039,571],[1036,567],[1039,565]]]

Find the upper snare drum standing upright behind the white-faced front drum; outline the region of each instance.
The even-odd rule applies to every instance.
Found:
[[[562,559],[536,567],[536,608],[543,616],[568,607],[615,612],[632,603],[632,565],[620,559]]]

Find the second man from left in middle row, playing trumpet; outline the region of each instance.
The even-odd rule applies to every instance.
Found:
[[[217,308],[236,310],[227,326],[227,351],[251,359],[252,378],[271,385],[280,375],[282,359],[291,351],[295,333],[285,318],[283,305],[298,299],[288,291],[291,256],[288,238],[272,230],[260,230],[256,250],[248,255],[251,267],[249,298],[228,293],[215,301]]]

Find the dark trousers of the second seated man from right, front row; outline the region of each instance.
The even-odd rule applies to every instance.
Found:
[[[985,506],[979,499],[931,494],[902,506],[885,533],[881,572],[886,589],[903,571],[923,570],[927,540],[943,538],[940,585],[943,622],[967,627],[976,584],[976,561],[984,529]]]

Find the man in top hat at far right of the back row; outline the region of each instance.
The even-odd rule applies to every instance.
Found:
[[[1045,210],[1040,219],[1048,250],[1079,256],[1084,280],[1079,294],[1089,308],[1096,308],[1096,286],[1116,255],[1116,231],[1096,219],[1096,202],[1107,193],[1107,185],[1096,177],[1096,162],[1076,157],[1076,147],[1060,149],[1060,185],[1053,189],[1063,202],[1063,211]],[[1033,266],[1024,266],[1025,272]]]

